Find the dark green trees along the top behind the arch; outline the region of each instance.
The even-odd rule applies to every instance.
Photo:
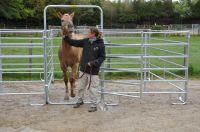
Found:
[[[104,11],[104,23],[108,27],[112,24],[170,24],[180,23],[182,20],[200,21],[200,0],[181,0],[173,3],[170,0],[109,1],[109,0],[0,0],[0,23],[21,21],[42,25],[43,9],[50,4],[80,4],[99,5]],[[97,25],[99,11],[96,9],[49,9],[49,25],[58,25],[57,12],[75,12],[76,25]],[[87,16],[87,17],[86,17]],[[186,21],[187,22],[187,21]],[[25,25],[25,24],[24,24]]]

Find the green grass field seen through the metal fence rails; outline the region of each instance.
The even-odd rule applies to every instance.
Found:
[[[157,39],[163,39],[165,37],[162,36],[152,36],[152,38],[149,41],[149,43],[163,43],[162,40],[156,40]],[[117,44],[140,44],[143,42],[141,38],[135,36],[135,37],[106,37],[106,41],[111,42],[111,43],[117,43]],[[165,38],[166,39],[166,38]],[[176,40],[176,41],[186,41],[186,38],[184,36],[168,36],[168,40]],[[42,40],[1,40],[2,43],[42,43]],[[199,78],[200,77],[200,36],[191,36],[190,38],[190,47],[189,47],[189,74],[190,78]],[[53,41],[54,45],[60,45],[61,39],[60,38],[55,38]],[[159,46],[158,46],[159,47]],[[161,48],[161,47],[159,47]],[[183,52],[183,48],[181,47],[165,47],[165,49],[175,51],[175,52]],[[54,54],[57,55],[58,48],[54,48]],[[106,49],[108,50],[108,49]],[[39,55],[43,54],[43,48],[32,48],[32,54],[33,55]],[[107,51],[108,52],[108,51]],[[141,53],[141,48],[112,48],[110,49],[110,52],[112,54],[140,54]],[[28,55],[29,54],[29,49],[27,48],[2,48],[2,54],[4,55]],[[164,52],[158,52],[155,49],[151,49],[150,54],[152,55],[165,55],[166,53]],[[178,62],[179,64],[183,64],[182,59],[169,59],[170,61]],[[24,66],[18,66],[18,63],[29,63],[29,59],[3,59],[2,63],[3,64],[16,64],[14,66],[3,66],[4,69],[7,68],[28,68],[29,65],[24,65]],[[32,59],[33,63],[43,63],[43,59]],[[59,63],[58,57],[55,57],[54,62]],[[129,62],[140,62],[139,59],[112,59],[111,62],[121,62],[124,64],[116,64],[116,65],[111,65],[112,68],[133,68],[133,67],[140,67],[140,64],[125,64]],[[151,62],[153,64],[159,65],[160,67],[163,67],[164,65],[166,67],[173,67],[173,65],[170,64],[164,64],[160,63],[157,59],[152,59]],[[105,65],[107,66],[107,65]],[[32,66],[33,68],[42,68],[43,66]],[[60,71],[59,65],[55,66],[56,71]],[[180,71],[175,71],[179,74],[182,74]],[[157,74],[162,74],[162,71],[155,71]],[[61,78],[62,74],[57,73],[55,76]],[[9,80],[10,78],[12,79],[38,79],[40,75],[31,75],[30,74],[4,74],[3,75],[4,79]],[[109,78],[126,78],[126,77],[137,77],[135,73],[111,73],[109,75]]]

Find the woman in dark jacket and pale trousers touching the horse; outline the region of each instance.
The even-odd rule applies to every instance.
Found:
[[[105,60],[105,46],[101,33],[95,27],[88,31],[87,38],[81,40],[73,40],[68,36],[64,37],[64,41],[75,47],[82,47],[83,53],[80,62],[80,78],[78,80],[78,100],[74,108],[83,105],[84,91],[88,88],[89,98],[91,100],[88,112],[97,111],[97,97],[94,93],[99,86],[99,69]],[[88,87],[87,87],[88,86]]]

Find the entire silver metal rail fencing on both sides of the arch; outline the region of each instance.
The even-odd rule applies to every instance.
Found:
[[[77,29],[80,33],[87,31],[87,28]],[[47,71],[45,86],[48,88],[53,79],[62,78],[57,56],[61,42],[61,37],[58,37],[60,29],[47,31],[46,46],[44,46],[43,33],[43,30],[1,30],[1,85],[18,82],[41,82],[44,85],[45,70]],[[134,98],[141,98],[145,93],[176,94],[176,96],[178,94],[178,99],[185,103],[188,85],[189,37],[187,31],[105,30],[107,60],[101,68],[102,89],[105,88],[106,83],[128,84],[134,87],[131,86],[128,91],[103,90],[101,92]],[[128,73],[132,76],[132,81],[109,79],[111,74],[115,73]],[[152,83],[158,87],[149,87]],[[159,83],[165,83],[166,87],[159,88]],[[1,95],[48,94],[43,88],[28,92],[11,92],[12,90],[6,91],[1,87]]]

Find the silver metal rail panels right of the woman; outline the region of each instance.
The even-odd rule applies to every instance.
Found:
[[[189,31],[104,31],[104,35],[109,43],[106,44],[107,61],[101,68],[103,83],[100,92],[106,95],[140,99],[147,94],[169,94],[175,95],[178,99],[178,101],[172,100],[173,104],[186,103]],[[121,43],[122,39],[126,40],[124,41],[126,43]],[[127,65],[129,67],[125,67]],[[132,80],[105,79],[110,73],[117,72],[133,72],[136,76]],[[126,90],[113,90],[104,86],[108,83],[130,86]],[[154,84],[154,87],[151,84]],[[159,87],[163,84],[162,88]]]

